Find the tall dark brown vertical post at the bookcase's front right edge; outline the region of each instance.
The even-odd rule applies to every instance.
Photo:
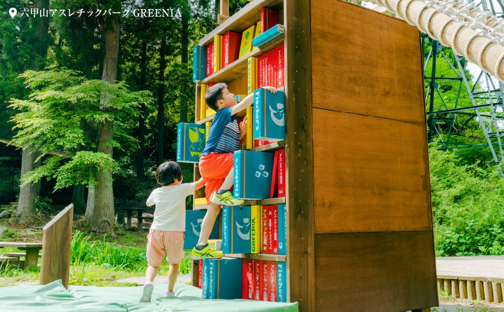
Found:
[[[287,300],[315,309],[310,0],[285,1]]]

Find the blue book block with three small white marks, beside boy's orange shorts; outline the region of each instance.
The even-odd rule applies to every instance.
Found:
[[[270,195],[274,154],[237,150],[234,152],[234,198],[265,199]]]

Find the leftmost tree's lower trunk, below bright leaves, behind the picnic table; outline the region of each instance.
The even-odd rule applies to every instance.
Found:
[[[23,184],[23,175],[40,166],[40,161],[35,163],[38,153],[33,151],[31,146],[23,148],[21,159],[21,184]],[[30,216],[35,214],[35,202],[40,195],[40,182],[22,186],[19,191],[18,208],[16,215],[19,216],[19,223],[27,223]]]

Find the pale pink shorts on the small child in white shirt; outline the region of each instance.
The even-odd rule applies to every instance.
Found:
[[[163,264],[164,254],[170,264],[178,264],[184,257],[184,235],[181,231],[149,230],[147,235],[147,263],[152,267]]]

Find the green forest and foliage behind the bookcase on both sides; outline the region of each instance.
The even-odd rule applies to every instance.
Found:
[[[230,14],[247,3],[230,0]],[[89,232],[120,232],[117,210],[144,205],[157,165],[175,159],[177,123],[194,121],[192,51],[217,26],[218,5],[0,3],[0,205],[10,224],[31,224],[72,202]],[[169,9],[173,16],[136,17],[135,9]],[[451,50],[444,52],[455,64]],[[436,76],[450,71],[438,67]],[[441,88],[447,102],[458,93],[455,82]],[[442,109],[442,101],[435,106]],[[471,106],[469,95],[462,92],[459,106]],[[442,137],[448,127],[461,144],[485,142],[474,116],[438,124]],[[504,254],[504,179],[489,148],[441,146],[439,138],[429,143],[436,254]],[[193,181],[193,165],[181,165],[184,181]]]

